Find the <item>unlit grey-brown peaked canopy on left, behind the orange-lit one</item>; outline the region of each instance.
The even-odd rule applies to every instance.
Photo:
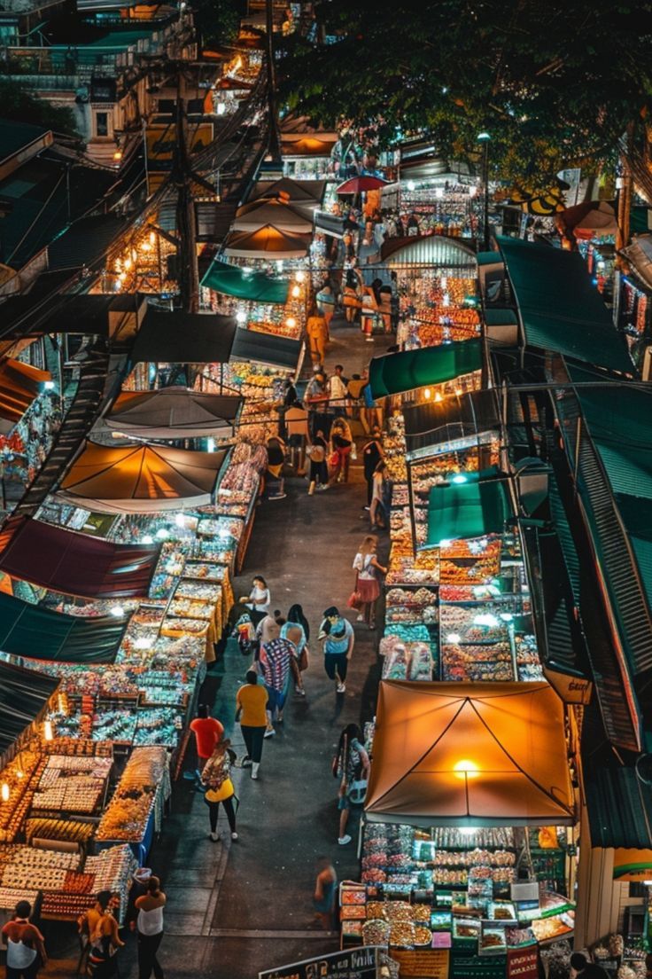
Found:
[[[110,429],[144,439],[231,437],[242,401],[237,395],[204,395],[181,387],[124,391],[105,421]]]

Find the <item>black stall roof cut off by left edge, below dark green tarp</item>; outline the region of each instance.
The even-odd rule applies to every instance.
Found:
[[[0,755],[40,720],[59,683],[55,676],[0,662]]]

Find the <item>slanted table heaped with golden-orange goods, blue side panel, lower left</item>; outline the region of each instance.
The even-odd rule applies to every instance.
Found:
[[[135,748],[95,835],[102,850],[128,843],[141,865],[160,831],[165,803],[171,794],[169,756],[164,748]]]

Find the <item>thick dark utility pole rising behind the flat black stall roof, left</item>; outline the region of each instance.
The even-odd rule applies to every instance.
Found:
[[[177,261],[181,304],[186,312],[199,308],[199,272],[196,260],[196,212],[193,200],[192,173],[186,145],[186,114],[182,99],[182,73],[177,84],[176,145],[172,180],[177,188]]]

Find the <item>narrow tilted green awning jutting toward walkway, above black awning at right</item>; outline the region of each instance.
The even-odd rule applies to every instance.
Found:
[[[373,397],[401,395],[428,384],[443,384],[482,367],[480,338],[460,340],[441,347],[424,347],[373,357],[369,384]]]

